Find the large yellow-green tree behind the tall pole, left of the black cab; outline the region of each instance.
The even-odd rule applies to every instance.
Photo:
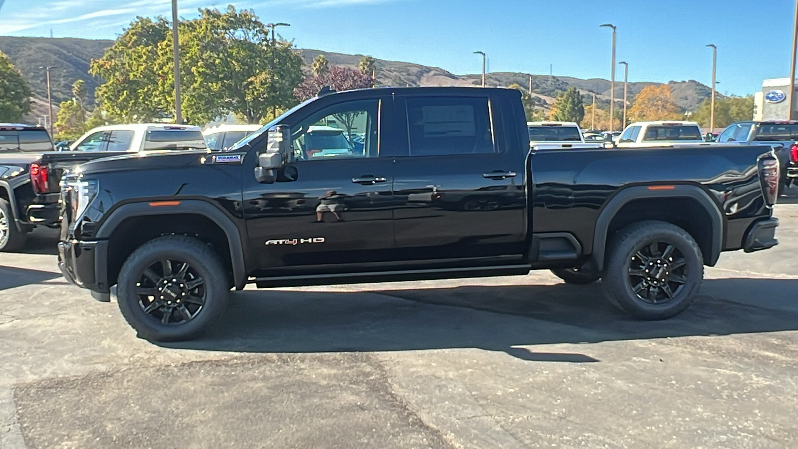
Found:
[[[302,58],[290,42],[271,42],[251,10],[200,9],[180,31],[184,121],[202,125],[233,113],[257,123],[296,104]],[[152,121],[172,116],[175,104],[172,34],[165,18],[137,18],[91,73],[109,117]]]

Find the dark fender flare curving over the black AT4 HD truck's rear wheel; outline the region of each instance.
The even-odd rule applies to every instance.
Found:
[[[710,244],[711,252],[704,255],[704,260],[705,264],[710,267],[714,266],[714,264],[717,263],[718,257],[721,256],[721,250],[723,249],[724,228],[723,214],[721,214],[721,209],[717,207],[712,198],[696,185],[675,185],[674,189],[670,190],[651,190],[649,187],[650,186],[647,185],[638,185],[621,190],[612,197],[599,214],[599,220],[596,221],[595,232],[593,234],[592,253],[593,263],[599,271],[604,269],[606,240],[610,222],[618,211],[630,201],[663,197],[690,198],[697,201],[698,204],[705,209],[707,215],[709,215],[710,224],[712,225],[712,242]]]

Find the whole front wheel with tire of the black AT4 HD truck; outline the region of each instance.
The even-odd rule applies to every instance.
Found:
[[[150,240],[120,270],[120,311],[141,338],[191,340],[226,308],[230,293],[226,272],[219,256],[192,237]]]

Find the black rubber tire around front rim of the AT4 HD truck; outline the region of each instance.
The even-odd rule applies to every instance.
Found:
[[[203,286],[204,301],[201,309],[196,312],[196,316],[192,316],[184,323],[163,324],[157,319],[157,316],[153,315],[153,312],[144,311],[144,301],[156,296],[141,296],[137,293],[137,291],[141,291],[140,288],[144,288],[144,284],[142,287],[137,284],[141,284],[142,280],[149,282],[149,278],[144,275],[145,270],[150,269],[152,274],[152,266],[161,260],[177,261],[178,264],[188,263],[189,269],[192,271],[188,275],[184,274],[184,278],[196,276],[193,280],[199,277],[203,281],[201,285]],[[179,266],[182,267],[182,265]],[[171,270],[174,276],[179,275],[179,273],[175,273],[177,269],[178,266],[175,266]],[[157,274],[163,276],[163,272]],[[164,279],[164,281],[168,280]],[[230,283],[227,279],[227,269],[219,260],[219,256],[207,244],[188,236],[162,236],[141,245],[128,257],[128,260],[125,260],[117,283],[117,302],[122,316],[132,328],[136,329],[138,336],[151,341],[180,341],[196,338],[222,315],[227,307],[229,295]],[[184,310],[188,307],[186,300],[182,307]],[[154,312],[160,313],[160,311],[159,308]],[[174,314],[170,317],[183,319],[177,310],[169,313]],[[160,313],[161,316],[164,314]]]

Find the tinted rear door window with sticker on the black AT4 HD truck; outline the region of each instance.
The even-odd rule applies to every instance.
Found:
[[[410,156],[496,153],[488,98],[407,99]]]

